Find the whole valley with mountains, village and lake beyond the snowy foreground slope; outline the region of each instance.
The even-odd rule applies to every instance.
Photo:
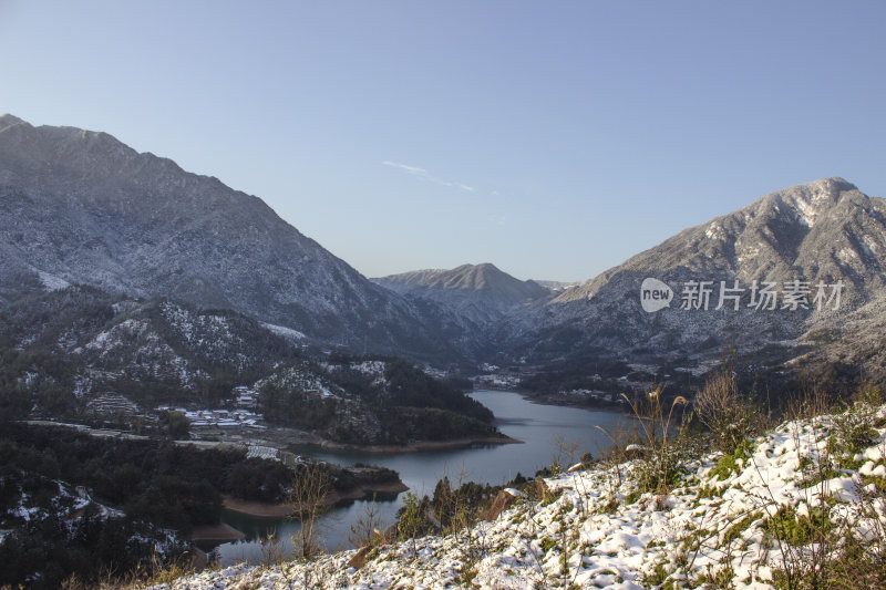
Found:
[[[884,203],[793,186],[576,283],[488,262],[369,279],[216,178],[3,115],[0,583],[258,561],[308,505],[327,549],[365,510],[440,532],[434,503],[467,522],[622,452],[648,400],[702,428],[723,374],[771,416],[808,383],[843,403],[886,377]],[[322,494],[293,499],[305,482]]]

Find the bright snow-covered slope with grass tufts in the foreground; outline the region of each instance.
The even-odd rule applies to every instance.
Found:
[[[815,465],[828,456],[833,416],[784,423],[734,460],[711,454],[689,464],[667,495],[637,496],[639,460],[598,464],[547,479],[560,491],[553,501],[519,497],[492,522],[374,549],[359,569],[349,565],[356,551],[342,551],[308,563],[204,571],[172,589],[640,590],[664,582],[697,588],[718,576],[736,589],[769,589],[784,567],[766,525],[780,509],[802,517],[823,508],[835,526],[852,522],[857,535],[882,540],[886,497],[865,494],[875,490],[870,477],[886,475],[886,406],[870,415],[875,437],[848,457],[853,468],[825,472],[818,482],[813,476],[823,472]],[[839,449],[832,444],[831,452]]]

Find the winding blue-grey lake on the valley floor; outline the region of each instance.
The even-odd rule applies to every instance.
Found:
[[[579,407],[540,405],[529,402],[523,395],[506,391],[476,391],[471,397],[492,410],[498,428],[521,444],[475,445],[472,447],[413,453],[361,453],[356,451],[302,449],[312,457],[342,465],[367,463],[390,467],[400,474],[403,483],[419,497],[433,495],[434,486],[443,477],[457,483],[477,482],[501,485],[513,479],[518,473],[533,476],[550,465],[558,454],[560,442],[567,445],[575,443],[577,451],[575,460],[583,453],[590,452],[599,456],[609,447],[609,438],[596,426],[610,431],[619,424],[627,425],[629,418],[616,412],[590,411]],[[568,455],[564,455],[564,463]],[[384,527],[395,520],[402,495],[390,495],[377,498],[378,514]],[[370,500],[343,503],[320,518],[323,545],[329,550],[350,547],[348,536],[350,526],[365,514]],[[200,545],[203,549],[213,549],[223,565],[238,561],[260,561],[262,558],[261,539],[276,530],[282,540],[282,550],[288,555],[292,546],[290,535],[298,531],[298,524],[279,518],[258,518],[226,510],[222,520],[241,530],[246,540],[227,542],[217,547]]]

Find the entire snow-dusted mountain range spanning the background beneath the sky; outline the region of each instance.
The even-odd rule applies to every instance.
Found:
[[[578,284],[522,281],[491,263],[370,280],[257,197],[107,134],[11,115],[0,117],[0,211],[6,306],[78,283],[437,365],[615,359],[700,373],[734,335],[761,365],[876,373],[886,348],[886,201],[838,177],[765,195]],[[669,306],[642,309],[648,278],[671,291]],[[686,301],[699,282],[708,309]],[[755,306],[764,283],[775,309]],[[828,297],[842,284],[838,304],[814,299],[818,283]],[[796,309],[791,284],[805,290]],[[738,297],[715,309],[724,287]]]

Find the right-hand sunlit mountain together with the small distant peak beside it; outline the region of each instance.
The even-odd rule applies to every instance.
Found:
[[[647,278],[671,290],[668,307],[643,310]],[[519,281],[492,265],[373,280],[475,360],[681,360],[703,371],[734,333],[761,366],[870,371],[886,344],[886,201],[838,177],[790,187],[577,284]]]

